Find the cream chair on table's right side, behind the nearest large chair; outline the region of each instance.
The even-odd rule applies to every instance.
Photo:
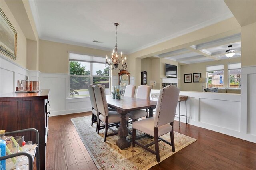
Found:
[[[136,93],[136,98],[140,99],[150,99],[150,91],[151,87],[148,85],[140,85],[138,86],[137,93]],[[140,109],[137,111],[131,111],[130,113],[127,114],[133,121],[137,121],[137,119],[141,117],[148,117],[148,110]]]

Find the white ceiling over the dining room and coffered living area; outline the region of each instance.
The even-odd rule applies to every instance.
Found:
[[[171,1],[29,1],[39,38],[126,54],[233,17],[222,0]],[[94,40],[98,41],[94,42]],[[240,51],[240,35],[163,53],[180,63],[219,60],[228,45]],[[239,56],[236,56],[239,57]]]

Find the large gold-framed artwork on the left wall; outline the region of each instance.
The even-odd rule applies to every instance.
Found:
[[[16,49],[17,49],[17,32],[0,8],[1,12],[1,22],[0,22],[0,51],[4,55],[16,59]]]

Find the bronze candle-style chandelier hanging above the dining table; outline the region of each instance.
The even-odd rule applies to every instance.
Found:
[[[116,30],[117,30],[117,26],[119,25],[118,23],[114,24],[116,26]],[[116,34],[117,35],[117,34]],[[111,54],[111,58],[108,58],[108,56],[106,55],[106,64],[105,67],[109,70],[113,70],[113,69],[119,69],[119,70],[124,70],[127,68],[126,65],[126,57],[123,58],[123,53],[121,52],[121,56],[118,55],[117,53],[117,36],[116,36],[116,46],[115,49],[113,49],[113,52]],[[111,60],[110,60],[111,59]],[[113,64],[113,65],[112,65]],[[121,66],[120,66],[121,65]]]

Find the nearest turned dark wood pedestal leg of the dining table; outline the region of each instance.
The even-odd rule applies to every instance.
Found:
[[[131,142],[126,139],[126,136],[128,136],[128,128],[126,125],[126,114],[121,113],[121,123],[120,127],[118,129],[118,136],[120,139],[116,141],[116,145],[122,150],[125,148],[128,148],[131,146]]]

